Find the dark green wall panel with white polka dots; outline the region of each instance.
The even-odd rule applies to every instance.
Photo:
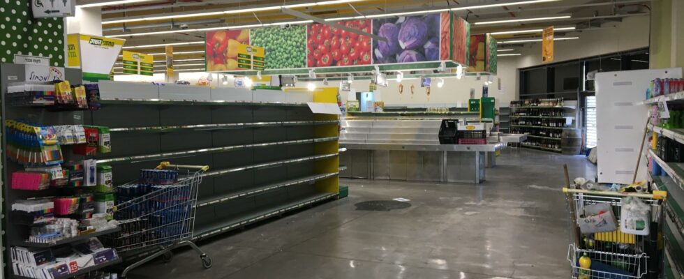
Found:
[[[31,1],[0,0],[0,62],[12,63],[14,54],[24,54],[64,66],[64,18],[34,19]]]

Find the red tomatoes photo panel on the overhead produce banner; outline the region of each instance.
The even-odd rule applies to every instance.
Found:
[[[371,20],[350,20],[337,24],[371,33]],[[371,38],[325,24],[306,27],[306,66],[330,67],[370,65]]]

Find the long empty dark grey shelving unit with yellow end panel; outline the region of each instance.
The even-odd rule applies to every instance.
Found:
[[[199,187],[194,239],[204,239],[339,193],[337,115],[306,103],[337,103],[336,90],[273,91],[99,83],[110,127],[114,184],[161,160],[209,165]]]

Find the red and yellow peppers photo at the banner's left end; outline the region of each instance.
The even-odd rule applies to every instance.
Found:
[[[249,45],[249,29],[207,32],[205,37],[207,72],[246,70],[239,68],[241,45]]]

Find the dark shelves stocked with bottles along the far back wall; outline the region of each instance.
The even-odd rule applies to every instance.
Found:
[[[531,149],[577,154],[581,136],[577,123],[577,101],[563,99],[525,99],[511,102],[507,124],[510,133],[526,134],[521,143]]]

